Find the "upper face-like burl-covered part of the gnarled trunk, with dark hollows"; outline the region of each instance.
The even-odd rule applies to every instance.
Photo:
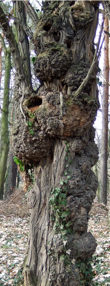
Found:
[[[44,2],[44,5],[48,4]],[[43,7],[34,34],[34,72],[41,87],[37,92],[28,88],[25,92],[23,110],[28,116],[27,143],[25,132],[28,127],[16,119],[13,132],[17,142],[15,153],[19,158],[37,162],[50,152],[54,137],[65,139],[76,134],[80,137],[91,127],[97,109],[95,73],[80,99],[75,100],[74,93],[87,75],[93,58],[94,9],[88,1],[64,1]],[[24,130],[24,139],[19,140],[20,148],[18,130]]]

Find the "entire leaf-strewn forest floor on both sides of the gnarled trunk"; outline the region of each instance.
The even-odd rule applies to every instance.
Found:
[[[94,272],[90,285],[110,285],[110,227],[107,211],[94,200],[88,231],[97,241],[92,259]],[[23,189],[16,190],[6,200],[0,200],[0,286],[15,286],[22,279],[22,264],[28,246],[30,210]],[[89,284],[83,284],[89,285]]]

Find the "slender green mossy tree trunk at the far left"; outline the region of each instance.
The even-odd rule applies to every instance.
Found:
[[[1,154],[0,154],[1,198],[3,198],[5,172],[7,169],[7,158],[9,152],[8,113],[9,113],[9,85],[10,85],[10,72],[11,72],[11,53],[9,47],[6,49],[4,41],[3,41],[3,47],[5,52],[5,82],[4,82],[3,107],[2,107],[2,118],[1,118]]]

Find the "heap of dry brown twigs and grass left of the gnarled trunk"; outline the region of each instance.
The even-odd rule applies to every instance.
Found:
[[[30,216],[30,209],[25,201],[25,192],[23,188],[15,190],[10,196],[0,200],[0,215],[19,216],[21,218]]]

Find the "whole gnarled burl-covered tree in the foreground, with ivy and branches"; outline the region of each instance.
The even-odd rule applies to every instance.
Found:
[[[28,1],[13,2],[17,41],[0,8],[16,68],[13,154],[25,166],[34,164],[35,174],[27,196],[32,212],[24,285],[79,285],[78,262],[96,248],[87,223],[97,190],[91,167],[98,160],[93,128],[99,106],[98,48],[95,55],[93,41],[99,1],[45,1],[39,20]],[[23,3],[34,19],[34,35],[27,29]],[[27,68],[29,35],[40,80],[36,91]]]

